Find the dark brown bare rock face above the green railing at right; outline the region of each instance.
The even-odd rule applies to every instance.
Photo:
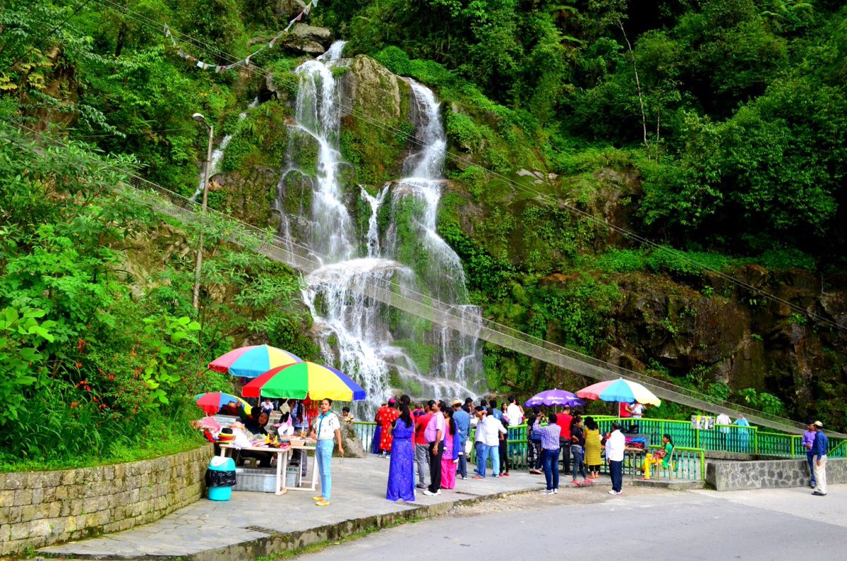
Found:
[[[733,276],[824,318],[839,322],[847,316],[844,279],[800,269],[772,272],[758,265]],[[701,282],[708,288],[698,292],[662,275],[618,279],[623,298],[612,312],[612,338],[600,350],[601,358],[636,370],[654,360],[676,375],[705,369],[706,380],[735,389],[761,388],[798,414],[824,397],[821,384],[843,383],[843,333],[718,276],[704,275]]]

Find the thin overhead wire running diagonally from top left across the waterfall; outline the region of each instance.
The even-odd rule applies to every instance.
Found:
[[[121,6],[117,3],[114,3],[112,0],[94,0],[94,1],[96,3],[100,3],[102,6],[108,8],[108,9],[112,9],[113,11],[125,14],[130,19],[135,19],[136,22],[140,23],[141,25],[147,25],[147,27],[150,27],[150,28],[157,30],[157,31],[162,31],[164,29],[165,24],[159,23],[159,22],[156,22],[153,19],[147,18],[147,16],[145,16],[143,14],[138,14],[137,12],[131,10],[130,8],[125,8],[124,6]],[[132,14],[132,15],[130,15],[130,14]],[[208,54],[213,54],[214,56],[219,56],[218,54],[215,54],[215,53],[212,52],[212,51],[215,51],[215,52],[219,53],[220,55],[223,55],[222,58],[227,59],[230,62],[236,62],[238,60],[238,58],[236,58],[235,55],[227,53],[224,50],[220,49],[219,47],[213,47],[212,45],[209,45],[206,42],[202,42],[201,40],[196,39],[192,36],[189,36],[185,33],[182,33],[180,31],[174,31],[173,28],[169,27],[169,29],[170,29],[172,34],[185,37],[187,41],[191,41],[198,46],[202,46],[201,47],[202,50],[204,50]],[[255,71],[258,75],[262,75],[265,78],[273,76],[272,72],[265,70],[265,69],[262,69],[261,67],[258,67],[256,64],[250,63],[250,64],[248,64],[248,66],[252,67],[252,69],[255,69]],[[288,83],[284,83],[284,84],[281,84],[281,85],[284,86],[285,88],[287,88],[291,93],[296,94],[296,87],[295,86],[288,84]],[[379,119],[374,119],[370,115],[363,113],[361,110],[359,110],[357,108],[353,108],[352,106],[345,105],[340,100],[339,100],[339,105],[340,105],[340,108],[344,109],[344,111],[346,113],[353,114],[357,118],[368,121],[368,123],[370,125],[374,125],[375,127],[379,128],[383,131],[388,131],[388,132],[391,132],[391,133],[394,133],[394,134],[402,133],[404,135],[407,133],[407,131],[402,131],[401,129],[399,129],[397,127],[394,127],[392,125],[387,125],[385,122],[380,121]],[[420,141],[415,136],[411,136],[409,140],[410,140],[410,142],[417,145],[418,147],[424,146],[424,143],[422,141]],[[446,150],[445,155],[446,155],[446,158],[449,158],[452,162],[455,162],[457,164],[477,165],[473,162],[473,160],[468,159],[468,158],[464,158],[461,155],[458,155],[456,153],[452,153],[449,150]],[[712,275],[715,275],[722,280],[726,280],[727,282],[733,284],[734,286],[738,286],[739,288],[742,288],[746,291],[752,292],[752,293],[757,294],[761,297],[765,297],[765,298],[767,298],[768,300],[770,300],[774,303],[783,304],[784,306],[789,307],[790,309],[794,310],[794,312],[796,312],[796,313],[798,313],[802,316],[808,317],[809,319],[812,319],[812,320],[814,320],[818,323],[829,325],[830,327],[833,327],[836,330],[847,332],[847,325],[844,325],[844,326],[839,325],[839,323],[837,323],[837,322],[835,322],[831,319],[828,319],[826,317],[823,317],[820,314],[817,314],[817,313],[812,312],[812,311],[810,311],[806,308],[802,308],[802,307],[800,307],[800,306],[798,306],[794,303],[791,303],[788,300],[785,300],[784,298],[778,297],[777,295],[773,294],[772,292],[767,292],[766,290],[763,290],[763,289],[761,289],[757,286],[750,285],[750,283],[747,283],[744,280],[740,280],[738,278],[735,278],[732,275],[728,275],[727,273],[724,273],[720,269],[715,269],[713,267],[710,267],[709,265],[703,264],[700,261],[698,261],[697,259],[689,257],[689,255],[686,255],[685,253],[679,252],[676,249],[673,249],[671,247],[667,247],[667,246],[662,245],[658,242],[653,242],[649,238],[646,238],[645,236],[640,236],[639,234],[637,234],[633,231],[628,231],[626,228],[623,228],[622,226],[614,225],[610,222],[607,222],[605,219],[601,219],[599,217],[596,217],[595,215],[590,214],[590,213],[588,213],[588,212],[586,212],[586,211],[584,211],[580,208],[577,208],[577,207],[575,207],[571,204],[568,204],[567,202],[564,202],[564,201],[557,199],[555,197],[551,197],[549,194],[547,194],[545,192],[540,192],[536,189],[533,189],[531,186],[526,186],[526,185],[523,185],[521,183],[518,183],[518,181],[514,181],[511,177],[508,177],[507,175],[503,175],[500,172],[497,172],[493,169],[484,168],[483,166],[478,166],[478,167],[484,169],[485,173],[487,175],[489,175],[490,177],[495,177],[495,178],[497,178],[501,181],[504,181],[505,183],[507,183],[507,185],[514,187],[519,192],[523,192],[523,193],[532,195],[536,198],[541,198],[542,200],[553,204],[554,206],[556,206],[556,208],[565,209],[565,210],[567,210],[567,212],[574,214],[576,216],[579,216],[580,218],[590,220],[590,221],[594,222],[596,225],[604,226],[604,227],[608,228],[609,230],[615,231],[618,234],[621,234],[622,236],[624,236],[628,239],[632,239],[635,242],[638,242],[640,245],[648,247],[655,252],[664,253],[664,254],[669,255],[673,258],[679,259],[680,261],[683,261],[687,264],[694,265],[697,269],[700,269],[700,270],[703,270],[703,271],[708,271]]]

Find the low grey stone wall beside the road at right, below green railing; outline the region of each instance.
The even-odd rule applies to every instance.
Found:
[[[709,461],[706,482],[717,491],[802,487],[809,485],[809,468],[805,459]],[[827,482],[847,483],[847,459],[828,460]]]

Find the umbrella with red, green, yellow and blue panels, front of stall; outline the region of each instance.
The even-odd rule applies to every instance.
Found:
[[[352,402],[363,400],[365,391],[339,370],[307,361],[268,370],[244,386],[241,395]]]

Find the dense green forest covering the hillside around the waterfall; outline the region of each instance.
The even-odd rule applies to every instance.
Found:
[[[194,193],[200,112],[231,137],[209,205],[274,231],[267,170],[288,146],[293,70],[331,38],[358,61],[340,78],[408,76],[440,99],[438,231],[485,317],[847,427],[842,3],[309,5],[281,35],[306,3],[0,7],[0,465],[191,445],[191,396],[230,386],[204,371],[211,358],[245,342],[318,358],[295,271],[115,187],[137,175]],[[405,119],[361,118],[383,102],[353,100],[340,131],[350,184],[371,191],[409,142]],[[579,381],[494,346],[484,375],[520,395]]]

